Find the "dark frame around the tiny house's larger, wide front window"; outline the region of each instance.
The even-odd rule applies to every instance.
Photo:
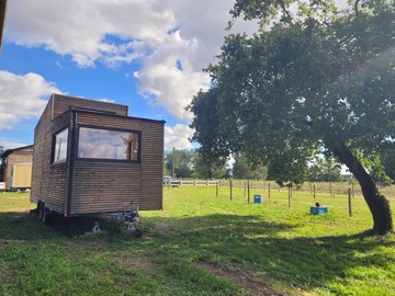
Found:
[[[137,134],[138,137],[138,151],[137,159],[111,159],[111,158],[87,158],[79,157],[79,146],[80,146],[80,130],[81,128],[90,128],[98,130],[110,130],[110,132],[120,132],[120,133],[131,133]],[[127,149],[132,149],[131,141],[127,144]],[[77,135],[76,135],[76,159],[78,161],[90,161],[90,162],[126,162],[126,163],[142,163],[142,132],[136,129],[127,129],[127,128],[115,128],[115,127],[106,127],[106,126],[94,126],[94,125],[78,125],[77,126]]]

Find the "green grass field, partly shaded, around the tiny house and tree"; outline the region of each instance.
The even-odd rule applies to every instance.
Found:
[[[37,221],[29,195],[0,194],[0,295],[393,295],[395,238],[371,237],[359,195],[165,187],[135,238],[89,218]],[[393,202],[395,196],[388,196]],[[315,202],[326,215],[311,215]]]

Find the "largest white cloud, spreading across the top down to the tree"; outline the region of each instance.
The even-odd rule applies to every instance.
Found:
[[[79,67],[98,61],[116,67],[138,59],[142,68],[134,78],[139,92],[189,121],[184,107],[207,86],[202,69],[219,54],[233,4],[234,0],[13,0],[5,37],[69,55]],[[253,32],[257,25],[241,22],[235,29]]]

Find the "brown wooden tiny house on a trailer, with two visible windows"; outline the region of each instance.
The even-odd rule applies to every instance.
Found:
[[[53,94],[34,134],[31,201],[64,216],[162,208],[163,121]]]

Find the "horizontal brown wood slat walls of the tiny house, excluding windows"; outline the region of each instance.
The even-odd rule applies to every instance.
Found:
[[[69,106],[116,115],[74,113]],[[50,209],[67,215],[122,212],[131,203],[140,209],[161,209],[165,122],[125,115],[124,105],[53,95],[35,129],[32,202],[44,201]],[[140,163],[76,158],[75,124],[140,132]],[[54,134],[66,126],[70,133],[67,161],[50,164]]]

